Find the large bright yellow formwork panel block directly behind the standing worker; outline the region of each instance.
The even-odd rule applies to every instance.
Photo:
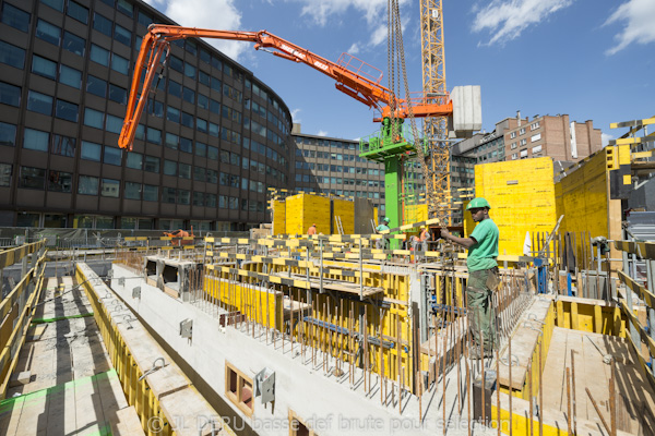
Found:
[[[491,205],[500,230],[499,254],[523,254],[526,232],[550,232],[557,223],[552,159],[512,160],[475,167],[475,193]]]

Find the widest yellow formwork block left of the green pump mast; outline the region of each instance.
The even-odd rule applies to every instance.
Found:
[[[286,198],[286,233],[303,234],[314,223],[317,231],[330,233],[330,198],[298,194]]]

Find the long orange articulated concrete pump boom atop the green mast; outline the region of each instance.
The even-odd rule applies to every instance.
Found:
[[[141,114],[145,109],[153,81],[157,74],[162,56],[169,48],[169,41],[184,38],[217,38],[254,43],[254,49],[271,49],[273,55],[294,62],[302,62],[320,71],[336,81],[336,88],[348,96],[364,102],[370,108],[381,111],[381,121],[390,117],[392,109],[390,105],[395,102],[394,117],[409,117],[409,105],[414,117],[441,117],[451,116],[453,111],[452,101],[448,95],[429,96],[419,95],[406,99],[396,99],[389,88],[380,85],[382,73],[367,65],[365,62],[344,53],[338,63],[329,61],[311,51],[303,49],[293,43],[279,38],[266,31],[239,32],[239,31],[212,31],[195,27],[180,27],[170,25],[151,24],[148,33],[143,37],[141,50],[136,58],[134,75],[130,87],[128,109],[123,122],[118,145],[121,148],[132,149],[132,143],[136,133],[136,126]],[[365,68],[376,70],[378,77],[367,74]],[[142,83],[142,70],[145,75]]]

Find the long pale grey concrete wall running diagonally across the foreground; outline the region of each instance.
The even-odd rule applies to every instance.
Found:
[[[124,286],[118,283],[121,277],[126,278]],[[132,289],[138,286],[141,287],[141,298],[133,299]],[[202,377],[206,386],[221,397],[223,404],[212,405],[223,416],[231,420],[230,426],[237,433],[243,428],[240,424],[242,422],[247,425],[241,429],[243,434],[254,431],[261,435],[286,436],[289,434],[289,411],[294,411],[322,436],[391,434],[394,427],[398,426],[412,427],[412,434],[428,435],[440,428],[437,427],[440,412],[436,403],[428,412],[425,412],[424,404],[424,413],[433,416],[431,420],[425,420],[424,428],[417,429],[415,426],[419,426],[419,421],[415,398],[405,399],[409,403],[400,415],[397,405],[384,408],[380,404],[379,390],[373,389],[367,398],[360,375],[356,374],[358,383],[355,389],[350,389],[347,375],[341,378],[325,376],[320,366],[314,371],[311,365],[303,365],[298,355],[299,344],[296,344],[291,355],[288,341],[283,353],[279,339],[274,348],[273,344],[266,344],[263,338],[254,339],[234,327],[223,329],[214,316],[146,284],[143,278],[136,278],[132,270],[121,265],[114,265],[111,287],[143,322],[175,349],[179,358],[191,366],[199,377]],[[179,335],[179,323],[187,318],[193,319],[191,340]],[[275,405],[264,407],[260,398],[255,398],[251,417],[233,407],[230,400],[224,396],[226,362],[248,377],[254,377],[266,366],[273,370],[276,378]],[[344,371],[347,373],[347,366]],[[390,387],[390,391],[391,389],[393,388]],[[238,417],[237,422],[235,416]],[[401,428],[395,428],[395,433],[403,433]]]

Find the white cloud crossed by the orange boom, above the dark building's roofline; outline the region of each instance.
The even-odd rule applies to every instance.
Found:
[[[241,29],[241,12],[235,0],[145,0],[181,26],[223,31]],[[226,56],[238,61],[250,44],[206,39]]]

